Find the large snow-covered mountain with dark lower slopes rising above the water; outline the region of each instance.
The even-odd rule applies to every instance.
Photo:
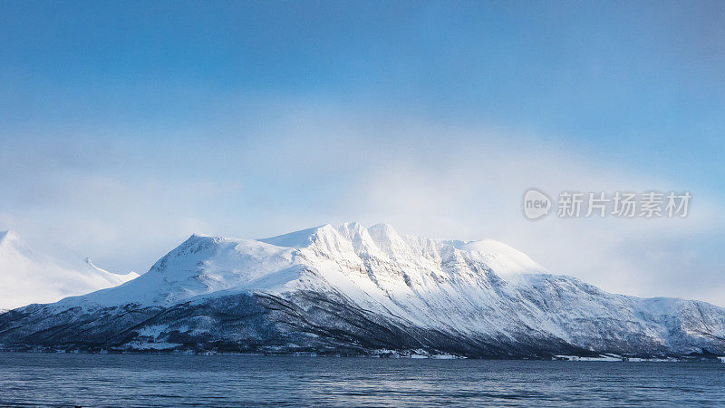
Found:
[[[725,354],[725,309],[606,293],[492,240],[325,225],[194,235],[120,287],[0,315],[0,343],[245,352]]]

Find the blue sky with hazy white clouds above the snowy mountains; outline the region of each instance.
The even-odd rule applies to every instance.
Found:
[[[3,2],[0,26],[0,228],[143,271],[192,232],[385,221],[725,305],[721,2]],[[530,223],[532,186],[701,204]]]

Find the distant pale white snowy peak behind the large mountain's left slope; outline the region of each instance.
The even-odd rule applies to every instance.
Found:
[[[70,249],[30,248],[14,231],[0,232],[0,310],[115,287],[139,277],[117,275],[83,260]]]

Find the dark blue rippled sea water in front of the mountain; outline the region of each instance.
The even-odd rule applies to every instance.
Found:
[[[725,364],[0,353],[0,405],[725,405]]]

